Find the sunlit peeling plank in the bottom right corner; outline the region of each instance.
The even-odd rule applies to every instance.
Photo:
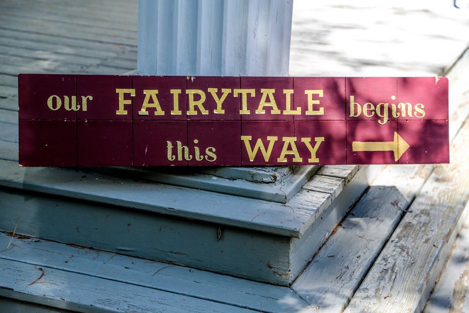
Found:
[[[465,210],[469,210],[466,207]],[[469,312],[469,225],[465,221],[424,313]]]

